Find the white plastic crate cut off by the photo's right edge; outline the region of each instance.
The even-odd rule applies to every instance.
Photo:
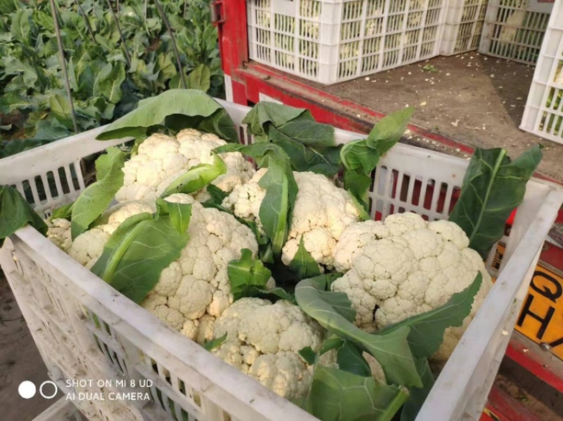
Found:
[[[563,143],[563,1],[557,0],[545,32],[520,129]]]

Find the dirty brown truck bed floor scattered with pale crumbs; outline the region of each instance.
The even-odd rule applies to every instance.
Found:
[[[412,123],[417,126],[466,145],[506,148],[510,157],[540,142],[545,149],[539,171],[563,181],[563,144],[519,129],[533,71],[529,65],[474,51],[322,89],[384,114],[415,106]],[[467,157],[460,151],[448,153]]]

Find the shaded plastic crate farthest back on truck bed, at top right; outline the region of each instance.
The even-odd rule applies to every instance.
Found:
[[[535,65],[553,0],[489,0],[479,53]]]

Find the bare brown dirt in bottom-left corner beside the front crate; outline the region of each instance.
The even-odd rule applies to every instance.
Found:
[[[0,272],[0,419],[31,421],[56,400],[39,394],[23,399],[18,386],[24,380],[36,385],[47,377],[47,369],[33,342],[18,304]]]

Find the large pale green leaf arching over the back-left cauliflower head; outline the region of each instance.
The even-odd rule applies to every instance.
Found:
[[[236,142],[234,122],[213,98],[196,89],[170,89],[139,103],[137,110],[110,124],[96,138],[107,141],[115,138],[139,137],[149,127],[165,124],[173,129],[193,127]]]

